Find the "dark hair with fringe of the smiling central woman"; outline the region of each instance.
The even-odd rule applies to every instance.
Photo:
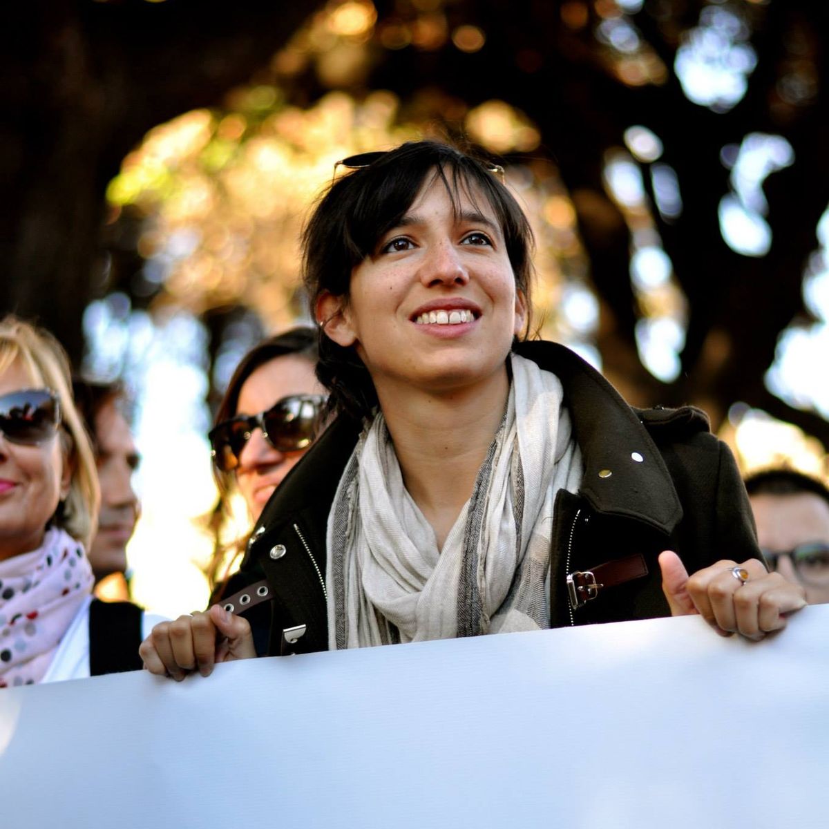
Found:
[[[487,200],[501,225],[516,287],[531,307],[533,238],[521,206],[482,160],[448,144],[417,141],[332,182],[318,202],[303,231],[303,281],[312,310],[323,292],[348,298],[351,271],[400,223],[430,174],[443,182],[458,212],[463,196],[480,193]],[[377,404],[371,376],[354,347],[327,337],[324,322],[317,376],[331,392],[332,409],[361,419]]]

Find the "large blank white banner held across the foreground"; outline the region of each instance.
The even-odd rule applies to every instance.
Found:
[[[2,827],[826,827],[829,605],[0,691]]]

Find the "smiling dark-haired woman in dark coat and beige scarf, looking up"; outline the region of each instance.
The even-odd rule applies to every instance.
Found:
[[[634,410],[572,351],[520,342],[531,233],[502,170],[432,142],[342,163],[303,237],[338,416],[242,566],[269,652],[670,613],[782,628],[802,589],[766,571],[705,414]],[[253,656],[229,604],[156,628],[146,667]]]

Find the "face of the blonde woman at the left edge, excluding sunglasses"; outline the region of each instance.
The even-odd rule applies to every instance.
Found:
[[[0,373],[0,395],[42,388],[19,361]],[[41,444],[12,444],[0,432],[0,560],[36,550],[46,522],[69,491],[70,468],[56,434]]]

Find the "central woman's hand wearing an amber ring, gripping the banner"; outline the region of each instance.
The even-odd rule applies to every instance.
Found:
[[[779,573],[768,573],[757,559],[739,565],[718,561],[689,577],[680,557],[666,550],[659,556],[659,566],[671,616],[699,613],[723,636],[741,633],[757,641],[766,633],[785,628],[786,614],[806,605],[805,591],[799,584]],[[748,573],[744,582],[734,575],[737,567]]]

